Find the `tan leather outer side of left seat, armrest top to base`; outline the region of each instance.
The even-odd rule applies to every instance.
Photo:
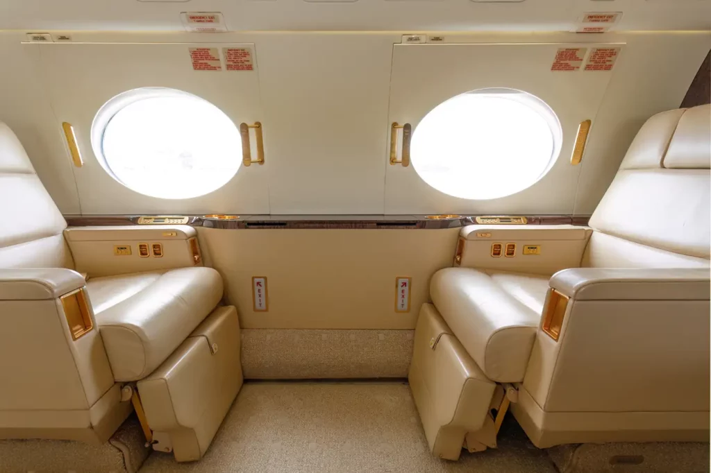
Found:
[[[130,413],[98,330],[70,332],[59,297],[83,285],[63,268],[0,269],[0,438],[104,442]]]

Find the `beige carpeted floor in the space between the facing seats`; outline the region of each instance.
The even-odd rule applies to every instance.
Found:
[[[499,448],[432,457],[410,387],[397,382],[258,382],[242,388],[199,462],[154,452],[140,473],[167,472],[555,473],[509,419]]]

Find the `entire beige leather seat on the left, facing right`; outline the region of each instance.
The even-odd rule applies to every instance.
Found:
[[[195,229],[67,229],[1,122],[0,213],[0,439],[105,442],[138,390],[154,447],[201,457],[242,371],[237,314],[218,307],[223,282],[201,266]],[[171,400],[196,372],[201,389]]]

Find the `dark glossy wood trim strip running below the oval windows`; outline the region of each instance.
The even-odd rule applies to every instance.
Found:
[[[188,225],[216,229],[447,229],[475,224],[476,215],[428,219],[424,215],[246,215],[239,219],[190,216]],[[585,215],[526,215],[529,225],[587,225]],[[138,225],[138,215],[65,215],[70,227]]]

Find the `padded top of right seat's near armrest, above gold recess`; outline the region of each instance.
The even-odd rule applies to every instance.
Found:
[[[705,268],[573,268],[550,287],[575,300],[709,300]]]

